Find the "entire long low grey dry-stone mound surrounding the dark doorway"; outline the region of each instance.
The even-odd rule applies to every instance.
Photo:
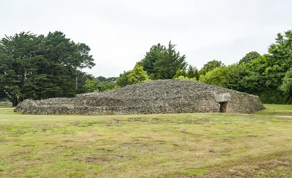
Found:
[[[215,95],[230,94],[231,113],[250,113],[264,106],[255,95],[185,80],[154,80],[110,92],[76,95],[75,98],[25,100],[15,108],[25,114],[155,114],[219,112]],[[228,98],[228,94],[223,98]],[[228,99],[229,100],[229,99]]]

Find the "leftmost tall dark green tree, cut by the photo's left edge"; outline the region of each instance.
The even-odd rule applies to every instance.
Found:
[[[37,80],[46,81],[45,75],[36,76],[43,61],[43,36],[21,32],[0,40],[0,93],[13,106],[24,98],[35,97]]]

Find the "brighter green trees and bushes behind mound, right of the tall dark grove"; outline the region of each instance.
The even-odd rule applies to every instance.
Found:
[[[238,63],[212,60],[201,70],[185,62],[174,44],[153,45],[131,71],[124,71],[110,89],[157,79],[199,81],[258,95],[263,103],[292,104],[292,30],[277,34],[268,52],[247,53]]]

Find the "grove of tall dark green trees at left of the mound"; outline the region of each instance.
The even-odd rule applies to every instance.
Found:
[[[92,66],[89,50],[61,32],[5,36],[0,40],[0,94],[14,106],[24,99],[73,97],[79,92],[74,88],[80,74],[76,65]]]

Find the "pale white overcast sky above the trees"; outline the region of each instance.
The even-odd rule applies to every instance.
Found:
[[[89,45],[94,76],[131,70],[152,45],[177,44],[198,69],[267,53],[292,29],[292,0],[0,0],[0,37],[61,31]]]

